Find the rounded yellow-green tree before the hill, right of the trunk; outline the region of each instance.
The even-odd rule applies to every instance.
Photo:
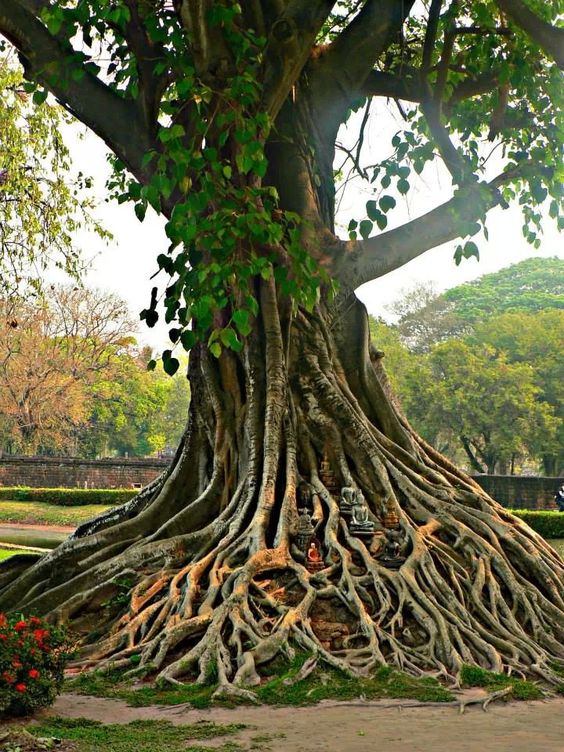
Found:
[[[436,345],[408,376],[404,407],[422,435],[449,456],[460,448],[477,473],[513,473],[523,457],[556,447],[557,421],[535,369],[485,343]]]

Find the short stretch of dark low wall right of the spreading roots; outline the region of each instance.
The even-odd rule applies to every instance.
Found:
[[[554,494],[564,478],[521,475],[475,475],[484,491],[512,509],[558,509]]]

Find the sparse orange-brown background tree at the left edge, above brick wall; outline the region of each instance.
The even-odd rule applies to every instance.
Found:
[[[49,299],[2,301],[0,404],[12,448],[56,451],[86,421],[85,387],[112,373],[131,343],[126,305],[79,287],[53,287]]]

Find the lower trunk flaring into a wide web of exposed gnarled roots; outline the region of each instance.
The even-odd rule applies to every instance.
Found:
[[[162,681],[213,680],[246,700],[260,667],[296,649],[308,670],[351,676],[390,664],[456,683],[477,664],[555,682],[557,554],[412,432],[370,361],[360,304],[291,325],[272,283],[261,304],[240,356],[193,352],[169,471],[20,570],[0,607],[73,625],[82,667],[135,656]],[[343,513],[324,457],[339,488],[364,494],[373,535]],[[316,566],[296,535],[305,483]],[[392,524],[396,568],[382,554]]]

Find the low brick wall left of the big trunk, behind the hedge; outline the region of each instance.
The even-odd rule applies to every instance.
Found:
[[[141,488],[167,466],[166,459],[119,457],[2,457],[0,486],[32,488]]]

